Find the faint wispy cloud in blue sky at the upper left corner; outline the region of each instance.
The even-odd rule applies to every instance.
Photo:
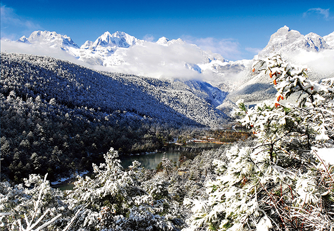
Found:
[[[13,8],[1,5],[1,36],[17,39],[17,36],[41,29],[41,26],[17,15]],[[18,34],[17,34],[18,33]]]

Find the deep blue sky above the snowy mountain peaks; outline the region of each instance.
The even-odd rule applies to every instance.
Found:
[[[1,1],[1,36],[12,40],[48,30],[81,46],[124,31],[152,41],[182,38],[231,60],[252,58],[284,25],[327,35],[334,1]]]

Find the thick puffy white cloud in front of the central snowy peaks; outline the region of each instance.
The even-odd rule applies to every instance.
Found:
[[[123,54],[119,54],[121,52]],[[118,55],[125,64],[107,67],[108,71],[155,78],[200,78],[198,72],[185,67],[185,63],[196,64],[203,58],[200,50],[189,44],[174,43],[167,47],[146,42],[143,46],[117,50],[115,56]]]

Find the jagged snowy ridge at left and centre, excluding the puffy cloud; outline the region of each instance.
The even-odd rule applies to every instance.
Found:
[[[163,56],[165,52],[173,50],[174,48],[177,49],[177,52],[184,52],[184,54],[189,57],[195,56],[197,58],[195,63],[184,60],[182,65],[183,68],[194,70],[198,73],[201,73],[202,70],[205,71],[206,69],[210,69],[210,65],[207,64],[209,64],[212,60],[220,60],[221,63],[226,61],[223,57],[221,57],[221,55],[214,54],[210,51],[203,51],[196,45],[187,44],[180,38],[170,40],[166,37],[161,37],[158,41],[156,41],[156,43],[151,43],[119,31],[113,34],[107,31],[99,36],[95,41],[87,40],[81,47],[78,47],[78,45],[75,44],[67,35],[60,35],[56,32],[49,31],[35,31],[28,38],[22,36],[17,41],[26,44],[40,44],[56,49],[60,48],[89,65],[99,65],[105,67],[124,66],[128,64],[131,65],[129,60],[127,60],[128,53],[131,52],[128,49],[135,46],[143,47],[146,45],[148,45],[149,49],[152,48],[151,50],[147,49],[147,56]],[[160,48],[161,46],[166,49]],[[186,50],[182,51],[182,49]],[[159,53],[157,54],[154,50],[159,50]],[[133,56],[133,54],[131,55]],[[198,56],[200,57],[198,58]],[[204,64],[206,65],[203,66]],[[168,61],[162,61],[160,62],[160,65],[168,66],[170,64]],[[202,65],[203,67],[199,68],[199,65]],[[217,66],[217,64],[213,63],[213,66]],[[216,68],[212,67],[212,69]]]

